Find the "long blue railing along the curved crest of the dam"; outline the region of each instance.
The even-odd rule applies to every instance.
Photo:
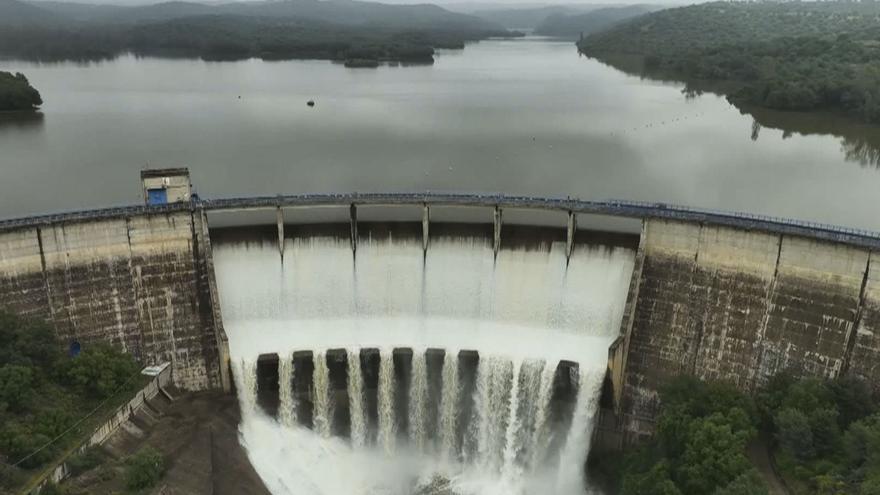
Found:
[[[194,200],[192,203],[172,203],[157,206],[123,206],[0,220],[0,230],[49,225],[62,222],[130,217],[149,213],[165,213],[196,209],[203,209],[205,211],[230,211],[296,206],[347,206],[351,204],[376,206],[424,204],[435,206],[526,208],[563,212],[571,211],[574,213],[601,214],[639,219],[664,218],[725,225],[749,230],[792,234],[871,248],[880,248],[880,232],[840,227],[817,222],[771,217],[768,215],[692,208],[688,206],[651,203],[645,201],[585,201],[575,198],[545,198],[536,196],[511,196],[497,193],[465,194],[452,192],[322,193],[202,199]]]

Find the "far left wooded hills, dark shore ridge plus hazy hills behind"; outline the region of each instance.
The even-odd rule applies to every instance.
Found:
[[[106,7],[0,0],[0,10],[30,12],[0,24],[0,57],[96,60],[123,53],[208,60],[316,58],[375,66],[431,63],[435,48],[512,36],[477,17],[435,5],[353,0]]]

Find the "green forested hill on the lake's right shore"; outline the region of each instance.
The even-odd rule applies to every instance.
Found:
[[[578,46],[610,63],[642,56],[649,76],[733,82],[734,102],[880,123],[880,2],[713,2],[625,21]]]

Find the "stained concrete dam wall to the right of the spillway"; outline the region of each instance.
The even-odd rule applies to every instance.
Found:
[[[646,221],[642,243],[620,410],[630,441],[651,434],[658,392],[679,374],[753,391],[783,370],[849,372],[880,391],[867,250],[665,220]]]

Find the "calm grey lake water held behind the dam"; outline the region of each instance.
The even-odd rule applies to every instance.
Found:
[[[485,41],[375,70],[134,57],[0,70],[46,102],[42,118],[0,119],[0,217],[139,203],[149,164],[188,166],[203,197],[570,195],[880,230],[880,128],[773,112],[762,126],[570,42]]]

